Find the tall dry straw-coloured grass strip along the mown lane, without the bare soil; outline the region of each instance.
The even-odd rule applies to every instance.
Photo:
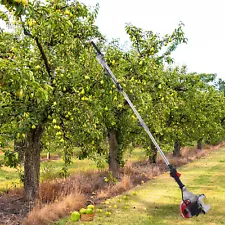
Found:
[[[195,159],[219,149],[225,142],[204,150],[183,148],[181,157],[175,158],[172,154],[167,157],[172,165],[179,167]],[[76,174],[67,179],[56,179],[41,184],[40,204],[34,208],[24,222],[24,225],[45,225],[57,221],[75,209],[83,207],[85,202],[93,199],[97,204],[107,198],[142,184],[153,177],[168,171],[167,166],[158,159],[155,165],[147,160],[128,162],[119,174],[118,182],[105,182],[107,171],[95,171]],[[94,195],[93,195],[94,193]]]

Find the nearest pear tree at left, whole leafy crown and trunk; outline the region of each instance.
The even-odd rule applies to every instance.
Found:
[[[78,122],[84,114],[78,97],[84,79],[81,59],[86,41],[100,34],[93,25],[97,9],[90,12],[77,1],[10,4],[16,29],[0,36],[7,48],[0,61],[1,125],[7,125],[11,139],[25,142],[24,187],[32,200],[38,196],[43,133],[56,136],[67,151],[67,121]],[[72,112],[77,117],[71,118]]]

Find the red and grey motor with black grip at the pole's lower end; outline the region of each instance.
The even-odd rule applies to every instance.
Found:
[[[189,192],[184,184],[180,180],[180,174],[177,170],[169,165],[170,176],[179,185],[182,192],[182,202],[180,204],[180,213],[184,218],[191,218],[193,216],[198,216],[200,213],[207,213],[210,209],[210,205],[204,194],[194,195]]]

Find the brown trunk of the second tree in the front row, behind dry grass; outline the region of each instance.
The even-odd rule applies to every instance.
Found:
[[[109,170],[112,171],[113,176],[116,176],[120,169],[120,162],[118,159],[118,142],[115,130],[109,131],[108,142],[109,142]]]

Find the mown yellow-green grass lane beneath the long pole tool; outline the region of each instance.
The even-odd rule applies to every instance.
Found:
[[[96,213],[92,222],[74,224],[89,225],[214,225],[225,224],[225,148],[212,152],[204,158],[189,163],[181,168],[182,181],[189,191],[204,193],[211,209],[206,215],[183,219],[179,214],[181,193],[177,184],[168,173],[138,186],[125,194],[110,199],[98,206],[103,212]],[[125,199],[124,199],[125,198]],[[115,207],[116,205],[116,207]],[[106,216],[106,212],[111,216]],[[64,218],[55,225],[71,224],[70,218]]]

